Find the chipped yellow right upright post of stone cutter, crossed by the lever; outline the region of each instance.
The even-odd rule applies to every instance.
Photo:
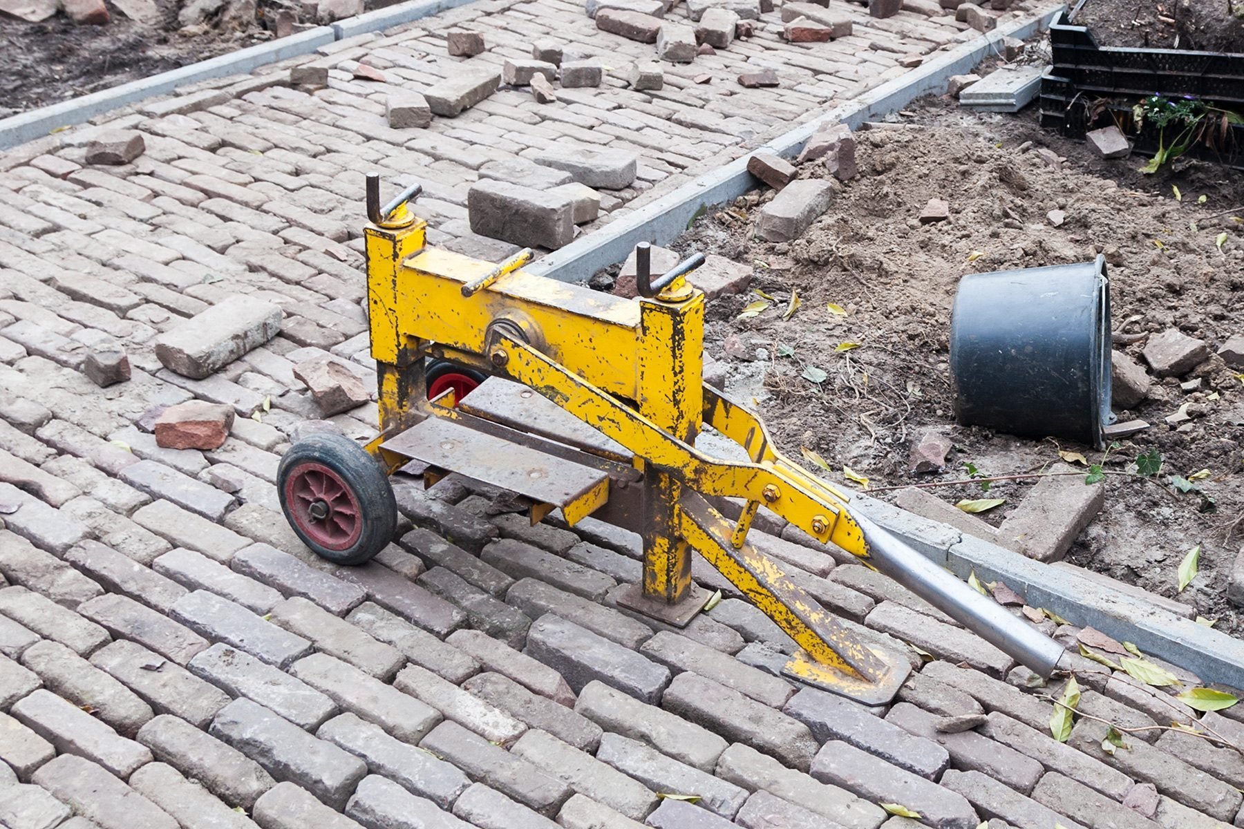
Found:
[[[638,404],[639,414],[690,442],[704,408],[704,295],[680,285],[656,300],[639,300]],[[680,602],[692,585],[690,548],[679,532],[679,497],[682,485],[673,476],[647,470],[643,595],[667,604]]]

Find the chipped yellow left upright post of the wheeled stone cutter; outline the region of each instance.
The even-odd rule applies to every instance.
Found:
[[[402,261],[423,250],[427,224],[414,220],[404,227],[367,225],[367,303],[371,314],[372,358],[376,359],[381,431],[409,425],[415,411],[412,399],[424,394],[418,343],[401,328],[398,285]]]

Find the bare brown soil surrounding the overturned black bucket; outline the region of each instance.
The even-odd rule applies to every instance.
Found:
[[[773,194],[754,191],[698,220],[674,245],[755,266],[755,293],[709,308],[707,348],[728,362],[728,389],[758,405],[792,457],[807,447],[829,462],[829,477],[843,481],[848,466],[873,490],[962,480],[968,464],[986,475],[1040,472],[1060,461],[1060,449],[1103,462],[1106,507],[1069,561],[1177,598],[1220,629],[1244,630],[1244,614],[1225,602],[1244,544],[1240,369],[1214,355],[1183,378],[1153,378],[1149,399],[1117,413],[1152,428],[1103,460],[1070,441],[957,425],[948,365],[950,307],[963,275],[1084,262],[1098,252],[1110,267],[1115,347],[1142,365],[1147,336],[1172,326],[1212,348],[1244,333],[1244,179],[1200,162],[1142,175],[1143,159],[1096,159],[1082,144],[1042,131],[1031,111],[975,114],[926,98],[906,114],[856,134],[858,178],[835,184],[835,201],[802,237],[755,239],[754,220]],[[824,178],[825,168],[807,163],[799,174]],[[949,200],[950,219],[921,225],[917,215],[932,198]],[[1047,218],[1052,210],[1066,214],[1061,226]],[[771,307],[740,318],[761,292]],[[785,318],[792,293],[800,305]],[[829,303],[846,313],[831,313]],[[810,382],[809,367],[826,379]],[[1199,389],[1181,389],[1198,378]],[[1168,425],[1184,403],[1192,419]],[[954,449],[944,474],[916,475],[909,450],[928,430],[949,435]],[[1151,450],[1163,459],[1161,472],[1128,475]],[[1209,470],[1198,483],[1214,502],[1210,512],[1202,512],[1209,505],[1199,495],[1168,482],[1200,470]],[[952,503],[1005,498],[983,516],[998,524],[1033,485],[929,492]],[[893,490],[878,495],[892,497]],[[1200,575],[1179,593],[1179,562],[1197,544]]]

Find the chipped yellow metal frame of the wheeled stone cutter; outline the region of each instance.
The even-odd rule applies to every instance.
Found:
[[[424,222],[398,213],[364,231],[382,429],[369,451],[396,469],[406,459],[386,450],[387,439],[429,414],[453,416],[425,401],[428,354],[527,385],[634,454],[644,488],[639,526],[631,528],[644,539],[647,600],[687,599],[690,551],[699,551],[802,648],[790,672],[870,702],[893,695],[909,670],[906,659],[861,644],[746,543],[765,506],[817,541],[868,556],[848,496],[784,457],[755,414],[704,385],[703,292],[682,277],[638,300],[555,282],[509,262],[425,247]],[[704,424],[743,446],[750,461],[697,451]],[[746,506],[729,522],[703,496],[739,497]],[[573,523],[595,506],[564,512]]]

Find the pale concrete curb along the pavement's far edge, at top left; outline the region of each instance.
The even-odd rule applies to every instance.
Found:
[[[81,124],[98,114],[119,109],[137,101],[158,94],[168,94],[178,87],[189,83],[253,72],[266,63],[309,55],[321,46],[327,46],[338,40],[391,29],[404,22],[411,22],[412,20],[419,20],[420,17],[427,17],[448,9],[466,5],[468,2],[473,2],[473,0],[411,0],[409,2],[348,17],[328,26],[316,26],[315,29],[309,29],[289,37],[281,37],[168,72],[160,72],[148,78],[131,81],[129,83],[100,89],[98,92],[92,92],[78,98],[22,112],[0,121],[0,150],[42,138],[58,127]]]

